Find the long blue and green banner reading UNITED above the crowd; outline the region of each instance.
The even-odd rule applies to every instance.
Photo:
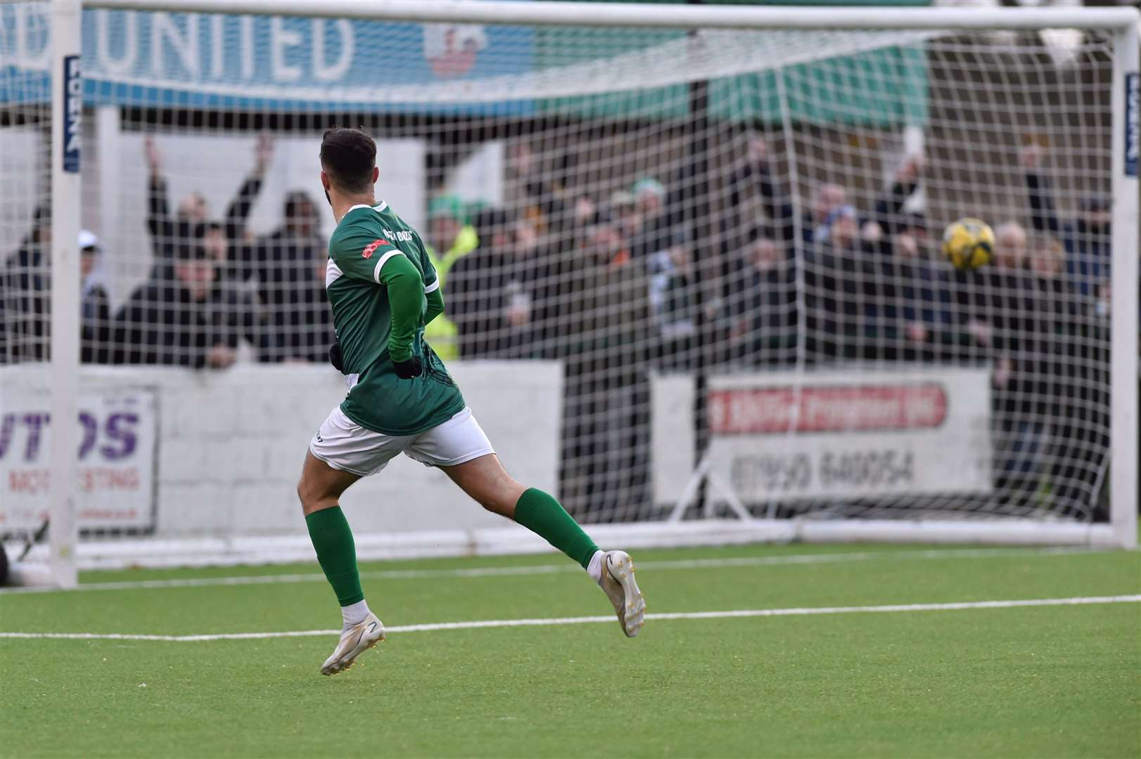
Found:
[[[0,3],[0,67],[11,70],[0,76],[0,104],[48,92],[48,8]],[[929,34],[772,30],[744,41],[704,30],[695,48],[685,30],[89,8],[83,97],[179,109],[677,119],[690,107],[688,83],[709,79],[714,119],[779,121],[783,87],[794,120],[917,125]],[[733,40],[742,55],[727,54]],[[809,59],[777,52],[786,49]],[[720,51],[718,63],[707,50]],[[623,70],[639,72],[637,87],[614,77]],[[818,97],[822,87],[832,95]]]

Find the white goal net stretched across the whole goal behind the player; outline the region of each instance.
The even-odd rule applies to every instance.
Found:
[[[9,550],[49,517],[63,245],[81,563],[307,550],[293,484],[345,392],[317,162],[334,125],[377,139],[378,202],[431,247],[447,310],[427,341],[508,470],[581,522],[1135,541],[1128,11],[823,28],[796,9],[127,5],[82,14],[81,209],[51,203],[51,3],[0,7]],[[51,212],[76,239],[50,239]],[[964,217],[994,231],[977,270],[940,248]],[[363,555],[513,545],[411,462],[346,503]]]

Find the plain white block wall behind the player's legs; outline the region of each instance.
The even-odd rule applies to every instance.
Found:
[[[558,489],[563,370],[555,361],[472,361],[448,368],[508,471]],[[6,392],[47,395],[43,366],[0,368]],[[155,538],[306,533],[296,484],[309,439],[345,395],[331,367],[238,365],[224,372],[84,367],[82,383],[159,392]],[[359,532],[501,527],[439,471],[397,457],[342,500]]]

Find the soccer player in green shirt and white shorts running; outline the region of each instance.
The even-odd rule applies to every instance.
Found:
[[[646,602],[630,556],[599,550],[555,498],[503,471],[460,389],[424,342],[424,325],[443,313],[444,299],[420,235],[374,197],[377,144],[355,129],[330,129],[321,144],[321,169],[337,220],[325,275],[337,330],[330,360],[349,386],[309,443],[297,488],[343,618],[322,674],[348,669],[385,639],[361,590],[353,532],[338,499],[402,452],[439,467],[484,508],[582,564],[614,604],[622,631],[638,635]]]

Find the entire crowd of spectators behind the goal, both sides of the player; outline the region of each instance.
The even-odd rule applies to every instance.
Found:
[[[258,142],[219,219],[197,194],[171,212],[162,156],[147,139],[153,268],[112,312],[98,267],[108,253],[81,234],[84,361],[225,368],[242,343],[258,361],[325,360],[332,326],[316,204],[290,193],[276,230],[246,228],[272,150],[268,138]],[[836,183],[801,203],[767,141],[746,134],[711,207],[681,177],[644,177],[605,198],[578,193],[569,172],[544,169],[517,142],[509,207],[472,212],[450,196],[429,205],[447,311],[427,336],[445,359],[564,361],[572,507],[647,500],[650,370],[924,361],[992,366],[1009,454],[1000,490],[1033,490],[1020,456],[1045,425],[1054,497],[1077,508],[1108,444],[1110,207],[1089,196],[1061,218],[1045,157],[1036,144],[1020,153],[1027,223],[992,220],[993,263],[962,272],[937,255],[924,214],[905,210],[923,180],[917,156],[867,207]],[[3,272],[3,360],[47,356],[49,244],[43,209]]]

